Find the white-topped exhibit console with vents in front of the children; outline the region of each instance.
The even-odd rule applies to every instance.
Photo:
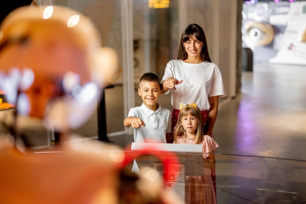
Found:
[[[136,158],[140,174],[154,179],[164,177],[167,187],[173,188],[181,200],[185,201],[185,176],[203,176],[203,145],[201,144],[168,144],[168,143],[132,143],[131,150],[137,151],[154,147],[158,153],[144,154]],[[169,173],[165,175],[165,166],[160,156],[177,158],[170,164]],[[148,169],[154,169],[147,173]]]

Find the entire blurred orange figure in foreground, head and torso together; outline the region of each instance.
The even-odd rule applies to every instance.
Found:
[[[114,50],[101,47],[87,17],[60,6],[14,10],[0,38],[0,89],[16,106],[12,120],[0,117],[10,132],[0,138],[0,203],[126,203],[119,176],[132,161],[127,153],[97,141],[65,143],[116,75]],[[59,133],[57,151],[25,148],[24,130],[42,126]],[[136,203],[174,203],[166,192],[158,188],[153,198],[141,195]]]

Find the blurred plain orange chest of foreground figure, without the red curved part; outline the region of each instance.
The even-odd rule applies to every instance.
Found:
[[[4,146],[0,152],[0,203],[118,203],[118,163],[109,154],[70,147],[24,154]]]

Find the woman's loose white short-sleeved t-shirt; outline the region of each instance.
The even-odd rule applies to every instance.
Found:
[[[175,85],[176,90],[170,90],[171,105],[174,109],[179,109],[180,103],[196,102],[200,110],[209,110],[209,97],[226,96],[219,67],[208,61],[190,64],[183,60],[171,60],[167,63],[162,82],[168,77],[183,80]]]

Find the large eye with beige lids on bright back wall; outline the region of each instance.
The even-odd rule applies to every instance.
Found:
[[[267,23],[249,21],[245,24],[244,30],[255,46],[268,45],[274,39],[274,29]]]

